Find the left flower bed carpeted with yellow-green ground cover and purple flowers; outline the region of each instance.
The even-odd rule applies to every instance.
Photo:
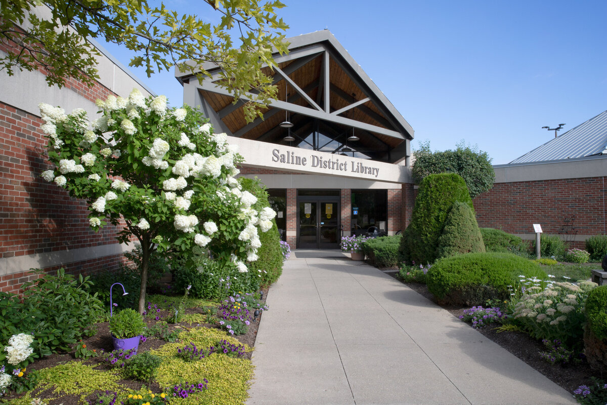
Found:
[[[175,290],[172,288],[171,290]],[[10,383],[0,373],[0,392],[5,391],[2,403],[7,405],[30,405],[39,403],[104,404],[124,403],[132,405],[164,404],[175,398],[183,404],[242,404],[246,400],[249,383],[253,377],[250,362],[254,333],[240,335],[241,341],[222,330],[219,325],[220,302],[190,298],[188,294],[148,296],[144,315],[144,335],[140,347],[133,351],[114,351],[109,338],[109,315],[101,313],[95,336],[84,336],[82,342],[69,347],[67,352],[34,361],[30,347],[31,335],[15,336],[2,350],[0,363],[10,373]],[[234,302],[231,301],[234,299]],[[246,311],[260,313],[251,316],[250,327],[257,327],[259,316],[267,310],[262,294],[234,294],[228,299],[237,316]],[[239,308],[236,308],[239,307]],[[175,308],[183,308],[184,318],[191,316],[198,324],[187,322],[167,323],[174,317]],[[243,309],[246,308],[246,311]],[[240,309],[240,311],[238,311]],[[114,315],[133,313],[130,308],[115,308]],[[112,317],[114,318],[114,317]],[[130,318],[129,318],[130,319]],[[111,320],[111,319],[110,319]],[[101,322],[99,322],[101,321]],[[123,322],[124,323],[124,322]],[[126,322],[133,324],[138,322]],[[256,330],[256,328],[255,328]],[[169,338],[169,336],[173,339]],[[180,356],[185,347],[200,349],[196,359]],[[89,350],[94,356],[78,359],[78,351]],[[94,350],[94,352],[93,352]],[[63,354],[62,354],[63,353]],[[76,357],[74,359],[73,357]],[[10,360],[12,363],[8,363]],[[0,364],[2,366],[2,364]],[[25,370],[27,366],[27,370]],[[13,376],[13,370],[19,369]],[[21,373],[21,376],[17,374]],[[27,379],[28,375],[35,379]],[[100,402],[103,401],[103,402]]]

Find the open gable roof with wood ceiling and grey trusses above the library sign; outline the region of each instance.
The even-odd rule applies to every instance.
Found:
[[[244,102],[232,104],[232,95],[213,83],[215,77],[202,84],[190,81],[193,77],[189,73],[176,70],[175,77],[182,84],[197,86],[228,135],[281,143],[287,130],[279,124],[288,112],[294,124],[291,133],[296,137],[293,146],[319,150],[320,145],[304,145],[310,134],[318,133],[343,146],[354,130],[360,140],[350,141],[348,146],[375,160],[399,162],[410,154],[413,128],[329,30],[287,41],[289,53],[274,54],[277,68],[263,68],[273,78],[279,95],[262,111],[263,120],[246,123]],[[204,67],[212,75],[218,71],[210,64]]]

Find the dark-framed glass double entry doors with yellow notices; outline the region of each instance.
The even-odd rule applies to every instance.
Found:
[[[297,211],[298,248],[339,248],[339,199],[300,198]]]

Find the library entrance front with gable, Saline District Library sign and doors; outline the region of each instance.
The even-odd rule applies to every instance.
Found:
[[[289,38],[265,68],[279,98],[246,123],[214,83],[176,72],[184,103],[200,108],[245,158],[240,173],[265,184],[283,240],[338,248],[341,236],[404,230],[402,184],[410,183],[413,129],[328,31]]]

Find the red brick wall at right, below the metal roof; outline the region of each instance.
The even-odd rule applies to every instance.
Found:
[[[546,234],[565,234],[571,228],[580,237],[605,234],[606,180],[585,177],[495,183],[474,199],[476,220],[481,227],[513,234],[532,234],[534,223],[540,223]],[[583,247],[583,240],[573,245]]]

